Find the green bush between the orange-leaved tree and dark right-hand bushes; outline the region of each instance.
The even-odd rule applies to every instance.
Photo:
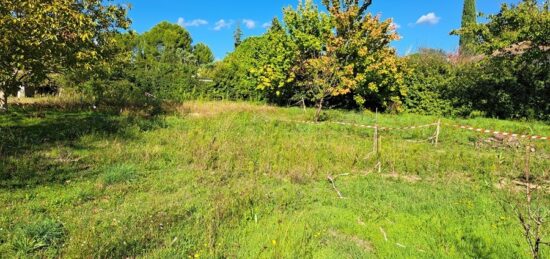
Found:
[[[407,78],[406,110],[436,116],[455,114],[448,93],[454,68],[446,53],[421,49],[419,53],[405,57],[405,60],[412,69]]]

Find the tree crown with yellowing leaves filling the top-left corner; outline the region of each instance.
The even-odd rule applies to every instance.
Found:
[[[127,8],[99,0],[0,1],[0,108],[26,83],[108,59]]]

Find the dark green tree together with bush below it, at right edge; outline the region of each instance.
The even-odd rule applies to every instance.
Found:
[[[549,120],[548,2],[504,4],[487,19],[461,32],[476,35],[485,58],[459,68],[453,87],[459,105],[499,118]]]

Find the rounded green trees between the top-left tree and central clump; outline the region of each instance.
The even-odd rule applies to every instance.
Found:
[[[162,22],[142,35],[118,35],[117,55],[91,71],[66,73],[64,86],[80,89],[96,102],[158,110],[161,102],[197,97],[199,68],[214,56],[205,44],[192,46],[181,26]]]

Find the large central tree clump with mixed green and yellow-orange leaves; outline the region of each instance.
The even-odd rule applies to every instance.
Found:
[[[273,21],[262,36],[267,47],[251,54],[259,58],[250,71],[257,88],[279,104],[401,111],[407,69],[389,46],[398,39],[392,21],[366,14],[368,1],[324,4],[328,13],[300,1],[284,9],[284,26]]]

